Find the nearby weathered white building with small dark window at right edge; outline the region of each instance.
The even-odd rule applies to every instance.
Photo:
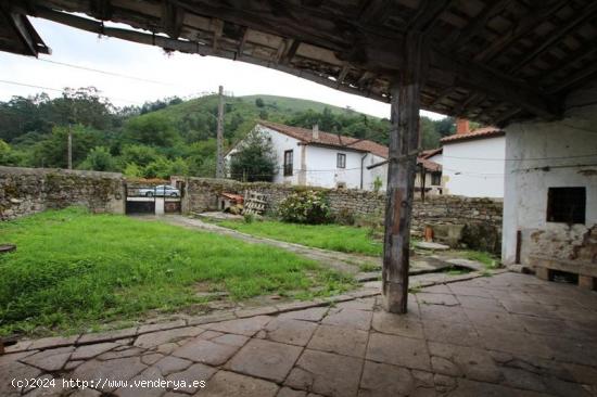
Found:
[[[597,85],[596,85],[597,86]],[[503,260],[597,289],[597,89],[552,123],[507,127]]]

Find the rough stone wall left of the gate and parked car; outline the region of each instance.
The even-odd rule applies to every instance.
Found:
[[[122,174],[0,167],[0,220],[82,205],[93,213],[125,213]]]

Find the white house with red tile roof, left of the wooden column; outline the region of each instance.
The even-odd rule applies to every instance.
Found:
[[[306,129],[258,121],[255,128],[271,139],[278,163],[275,183],[363,190],[379,184],[385,189],[385,170],[367,168],[388,158],[384,145],[319,131],[317,126]],[[227,164],[240,144],[226,155]]]

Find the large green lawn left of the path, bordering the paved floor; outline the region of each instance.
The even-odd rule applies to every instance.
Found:
[[[0,334],[75,332],[150,310],[190,309],[205,302],[200,284],[231,299],[352,286],[282,249],[81,208],[0,222],[0,242],[17,244],[0,256]]]

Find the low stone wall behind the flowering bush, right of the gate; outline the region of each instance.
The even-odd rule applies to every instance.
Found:
[[[185,181],[186,194],[182,212],[206,212],[218,208],[217,197],[221,192],[243,194],[246,190],[258,191],[267,196],[268,210],[276,213],[284,197],[304,187],[274,183],[243,183],[233,180],[203,178],[174,178]],[[175,182],[173,182],[175,183]],[[385,210],[385,194],[360,190],[325,190],[334,215],[352,215],[356,219],[381,219]],[[412,208],[412,233],[422,235],[424,227],[436,229],[436,235],[452,245],[466,243],[475,249],[499,253],[501,244],[503,203],[494,198],[469,198],[461,196],[428,196],[422,202],[416,196]],[[446,235],[445,239],[442,239]],[[450,236],[448,236],[448,234]],[[455,236],[456,235],[456,236]],[[452,241],[454,240],[454,241]]]

